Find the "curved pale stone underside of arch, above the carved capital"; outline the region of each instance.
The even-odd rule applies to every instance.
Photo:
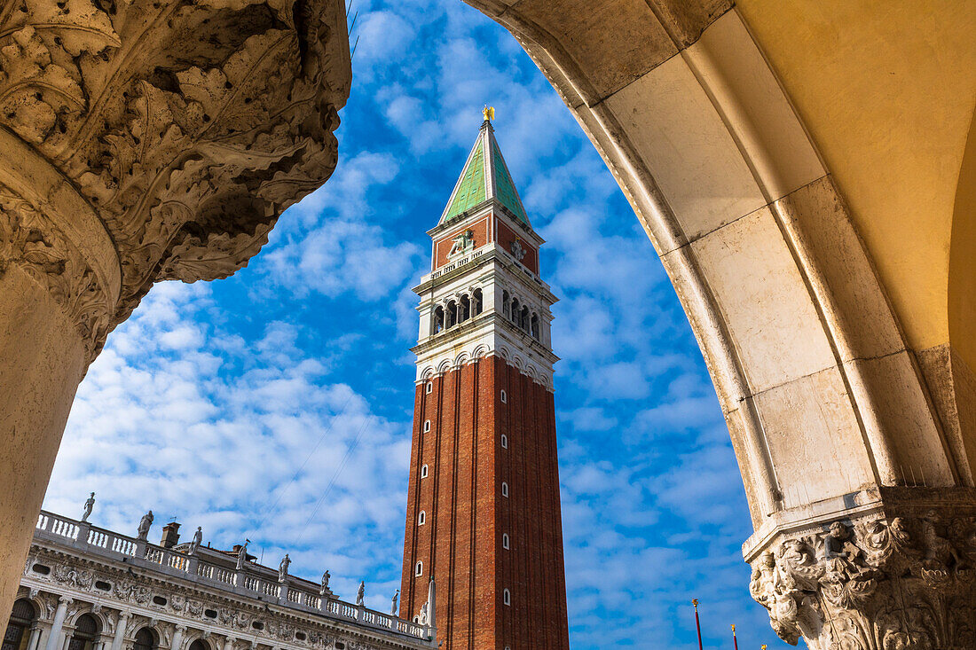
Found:
[[[756,528],[748,558],[855,494],[864,505],[884,486],[973,485],[976,436],[946,406],[945,383],[929,386],[945,366],[920,364],[739,8],[466,2],[543,70],[670,274],[742,471]]]

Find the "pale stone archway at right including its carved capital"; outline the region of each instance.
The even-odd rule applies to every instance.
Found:
[[[882,284],[745,10],[465,1],[547,75],[671,276],[738,457],[755,528],[744,545],[752,594],[774,629],[817,648],[974,642],[976,437],[952,412],[974,393],[940,382],[945,364],[917,345],[897,273],[883,266],[894,279]],[[749,5],[752,16],[774,11]],[[923,36],[938,42],[938,32]],[[937,180],[953,189],[950,176]],[[972,258],[967,244],[954,260]],[[971,291],[972,278],[958,281]]]

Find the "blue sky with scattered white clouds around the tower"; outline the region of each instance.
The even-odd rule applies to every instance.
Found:
[[[260,256],[157,285],[78,390],[45,508],[135,532],[243,538],[276,565],[388,607],[399,587],[417,298],[481,106],[536,229],[554,305],[574,648],[787,647],[749,596],[752,532],[712,383],[671,283],[564,104],[503,28],[460,1],[357,0],[333,179]]]

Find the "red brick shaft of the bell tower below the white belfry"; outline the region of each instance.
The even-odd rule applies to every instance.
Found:
[[[415,398],[400,616],[420,613],[433,575],[445,650],[569,648],[552,393],[498,356],[431,385]]]

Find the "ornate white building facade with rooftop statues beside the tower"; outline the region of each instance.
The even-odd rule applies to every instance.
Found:
[[[142,528],[142,526],[141,526]],[[147,529],[148,526],[145,526]],[[42,511],[3,650],[417,650],[435,630],[345,602],[246,548],[161,545]]]

